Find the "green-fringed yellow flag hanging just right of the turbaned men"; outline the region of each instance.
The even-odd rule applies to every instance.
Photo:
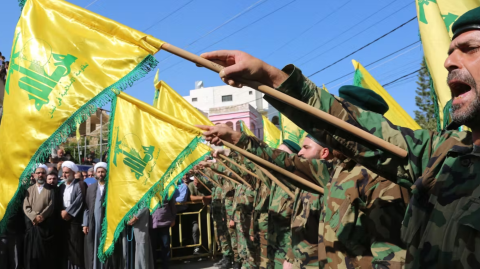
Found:
[[[209,153],[202,130],[181,120],[125,93],[113,101],[100,259],[112,254],[133,215],[170,199],[176,182]]]

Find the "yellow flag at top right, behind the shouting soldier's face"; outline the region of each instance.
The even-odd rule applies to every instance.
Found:
[[[438,126],[443,122],[443,110],[452,99],[446,83],[448,72],[443,67],[452,40],[452,25],[465,12],[480,6],[480,0],[415,0],[423,52],[437,99]]]

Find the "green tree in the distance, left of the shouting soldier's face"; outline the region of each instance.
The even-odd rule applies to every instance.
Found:
[[[415,110],[415,121],[422,127],[430,131],[437,130],[437,120],[435,115],[434,99],[430,94],[430,75],[427,71],[425,60],[421,64],[422,69],[418,73],[417,96],[415,104],[419,110]]]

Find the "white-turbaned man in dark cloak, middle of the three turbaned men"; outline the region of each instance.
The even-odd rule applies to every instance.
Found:
[[[63,265],[68,269],[80,269],[84,267],[82,220],[87,186],[75,179],[78,167],[73,162],[63,162],[62,172],[65,177],[64,183],[60,186],[60,196],[63,199],[61,211],[64,240]]]

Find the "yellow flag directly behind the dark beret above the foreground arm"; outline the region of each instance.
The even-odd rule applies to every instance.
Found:
[[[378,83],[370,73],[357,61],[352,60],[355,67],[354,85],[370,89],[380,95],[388,104],[388,111],[385,118],[395,125],[410,128],[412,130],[421,129],[420,125],[393,99],[393,97]]]

